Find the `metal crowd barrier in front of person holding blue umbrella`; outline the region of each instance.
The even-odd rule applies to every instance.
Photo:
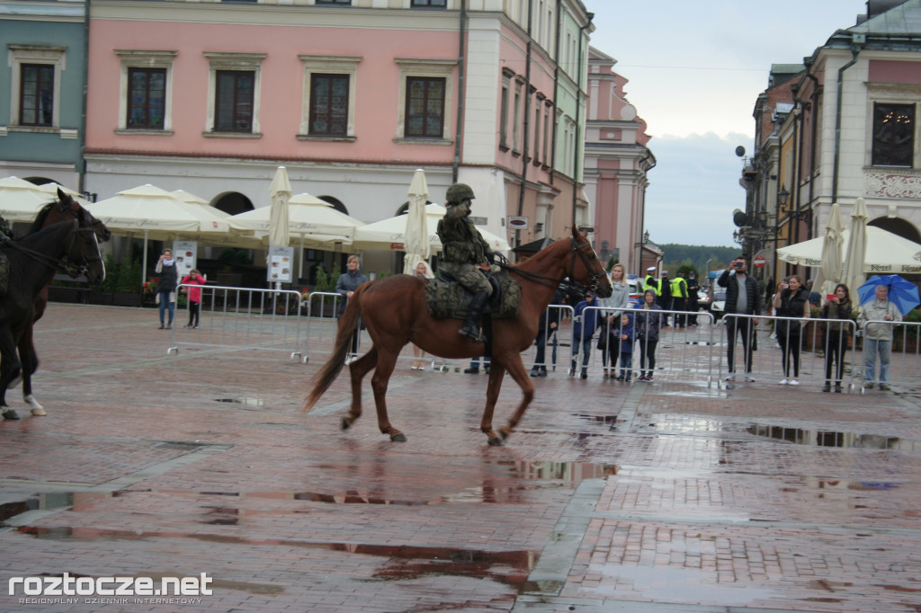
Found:
[[[915,321],[876,321],[868,322],[874,326],[882,325],[890,328],[887,330],[887,336],[892,337],[888,347],[884,346],[883,351],[877,350],[874,354],[872,350],[872,339],[867,338],[867,328],[863,327],[861,338],[859,340],[862,351],[860,352],[859,361],[855,360],[856,370],[855,379],[861,387],[861,391],[867,387],[880,387],[895,385],[897,387],[916,388],[921,385],[921,349],[919,349],[919,335],[921,335],[921,323]],[[879,344],[879,343],[877,343]],[[869,346],[870,345],[870,346]],[[882,359],[888,353],[889,359],[888,372],[883,376]],[[873,372],[868,372],[868,365],[873,364]],[[872,385],[871,385],[872,384]]]

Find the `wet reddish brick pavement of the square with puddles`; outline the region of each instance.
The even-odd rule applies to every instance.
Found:
[[[628,385],[557,370],[507,445],[486,377],[391,379],[347,431],[320,356],[183,347],[151,310],[52,304],[0,422],[0,609],[921,611],[915,392]],[[519,400],[507,379],[496,410]],[[196,577],[211,596],[21,603],[11,577]],[[158,579],[157,579],[158,580]],[[33,596],[34,597],[34,596]],[[39,598],[41,600],[41,598]],[[68,600],[58,597],[58,600]]]

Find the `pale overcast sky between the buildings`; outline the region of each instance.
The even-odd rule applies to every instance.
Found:
[[[771,64],[799,64],[866,0],[583,0],[591,46],[617,60],[626,97],[647,121],[657,166],[646,221],[656,243],[734,246],[744,208],[738,145],[752,153],[755,98]]]

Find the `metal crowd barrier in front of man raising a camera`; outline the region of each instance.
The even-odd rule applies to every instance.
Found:
[[[757,320],[757,323],[755,323]],[[799,334],[790,334],[790,326],[781,334],[777,334],[777,322],[799,321]],[[779,384],[796,384],[801,387],[823,387],[825,383],[834,386],[839,381],[837,378],[837,364],[834,364],[831,376],[826,377],[826,357],[836,355],[840,351],[844,362],[844,373],[840,379],[841,387],[845,391],[856,389],[855,379],[859,376],[857,370],[856,353],[851,349],[856,338],[857,325],[850,319],[822,319],[822,318],[785,318],[772,315],[739,315],[727,313],[720,326],[719,345],[726,348],[723,366],[719,368],[721,381],[754,380]],[[844,326],[846,334],[843,340],[833,346],[833,337],[822,332],[822,323],[826,326]],[[729,338],[730,331],[732,338]],[[743,335],[748,333],[747,341]],[[845,342],[847,341],[847,342]],[[732,368],[729,368],[729,348],[733,353]],[[751,351],[751,368],[747,367],[747,347]],[[786,357],[785,357],[786,354]],[[787,370],[784,368],[787,360]],[[799,359],[799,372],[796,361]]]

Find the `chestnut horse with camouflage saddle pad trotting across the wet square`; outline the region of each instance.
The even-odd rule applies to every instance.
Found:
[[[524,411],[534,398],[534,386],[521,363],[521,352],[530,347],[537,336],[538,319],[550,304],[554,292],[565,277],[595,289],[601,297],[612,293],[611,281],[604,272],[594,249],[586,239],[573,229],[569,240],[559,240],[542,249],[537,255],[508,271],[519,277],[521,305],[515,318],[493,321],[492,353],[490,355],[489,387],[480,430],[486,434],[489,445],[502,445],[521,421]],[[313,389],[304,411],[309,411],[320,399],[344,366],[349,340],[358,322],[364,318],[373,344],[370,351],[349,365],[352,375],[352,406],[343,418],[343,428],[348,428],[361,416],[361,382],[374,369],[371,387],[378,409],[380,432],[392,441],[404,441],[406,436],[391,425],[387,417],[387,384],[402,347],[413,342],[425,352],[445,358],[471,358],[484,354],[484,345],[461,336],[460,319],[432,318],[426,307],[426,287],[422,280],[397,274],[358,287],[349,300],[348,307],[339,320],[332,356],[314,378]],[[518,410],[507,425],[493,430],[493,411],[499,398],[502,379],[508,374],[521,387],[523,398]],[[500,437],[501,435],[501,437]]]

